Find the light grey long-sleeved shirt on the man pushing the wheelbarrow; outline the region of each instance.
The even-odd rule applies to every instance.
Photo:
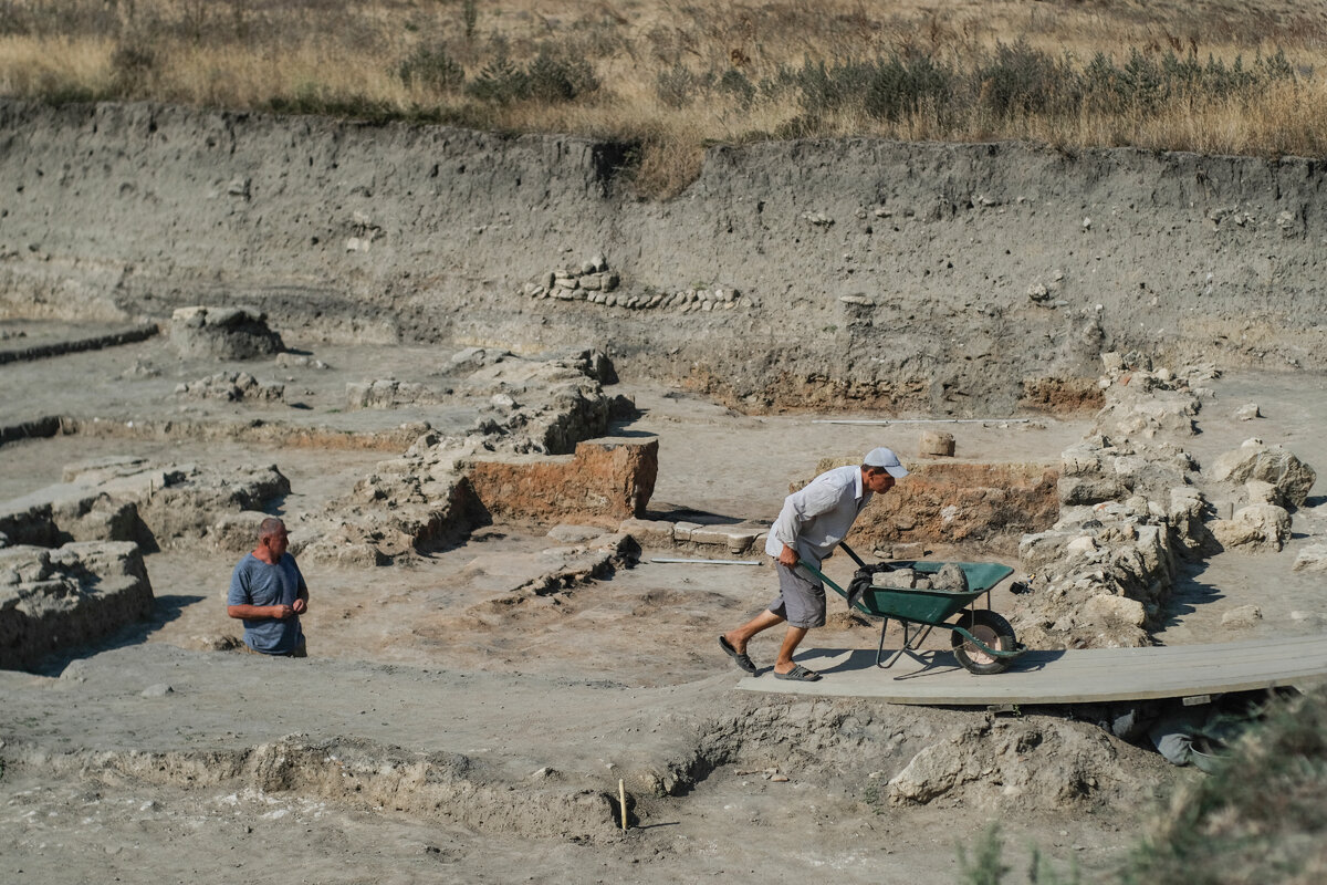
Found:
[[[787,544],[800,559],[819,568],[820,560],[848,536],[871,496],[861,486],[861,467],[856,464],[820,474],[783,499],[764,552],[778,557]]]

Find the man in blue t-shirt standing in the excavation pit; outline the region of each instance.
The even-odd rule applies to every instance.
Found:
[[[300,616],[309,608],[309,588],[295,557],[285,552],[291,536],[285,523],[264,519],[257,547],[235,567],[226,613],[244,621],[244,647],[253,654],[304,658]]]

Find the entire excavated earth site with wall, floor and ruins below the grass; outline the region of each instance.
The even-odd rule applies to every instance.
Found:
[[[1205,776],[1121,710],[734,690],[783,495],[874,444],[855,547],[1014,567],[1035,647],[1324,629],[1315,163],[779,145],[658,204],[575,139],[3,114],[7,881],[953,881],[993,821],[1108,877]],[[308,659],[235,650],[265,515]]]

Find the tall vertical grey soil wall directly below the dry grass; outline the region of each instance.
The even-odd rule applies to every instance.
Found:
[[[1112,349],[1327,368],[1322,161],[774,142],[711,149],[658,202],[633,194],[630,157],[0,102],[0,316],[247,304],[333,340],[601,344],[624,377],[751,410],[1005,414]],[[529,296],[594,256],[613,304]],[[653,297],[714,287],[739,297]]]

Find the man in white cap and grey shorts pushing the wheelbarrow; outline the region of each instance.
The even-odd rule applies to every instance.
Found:
[[[888,448],[872,448],[861,467],[836,467],[812,479],[805,487],[783,500],[779,519],[770,529],[764,552],[775,557],[779,573],[779,598],[770,608],[735,630],[719,637],[719,645],[739,667],[755,674],[758,667],[747,657],[746,646],[756,633],[778,624],[788,622],[788,633],[774,662],[775,679],[815,682],[819,673],[792,662],[802,637],[813,626],[825,622],[825,588],[819,579],[812,580],[798,560],[820,568],[820,560],[829,555],[844,537],[861,508],[872,495],[888,492],[894,480],[908,475],[898,456]]]

